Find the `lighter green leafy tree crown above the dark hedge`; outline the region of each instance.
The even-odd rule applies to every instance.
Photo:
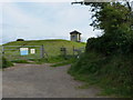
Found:
[[[102,29],[105,34],[115,33],[115,30],[130,30],[133,18],[131,11],[125,4],[120,2],[113,3],[91,3],[93,26],[96,29]]]

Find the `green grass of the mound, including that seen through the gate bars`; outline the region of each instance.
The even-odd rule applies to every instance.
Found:
[[[62,47],[66,48],[66,54],[73,54],[73,47],[79,49],[85,47],[84,42],[73,42],[69,40],[30,40],[30,41],[12,41],[3,46],[44,46],[44,51],[47,52],[49,59],[61,54],[60,49]],[[40,59],[40,47],[31,47],[37,50],[35,54],[29,54],[21,57],[18,50],[6,50],[7,59]],[[30,49],[31,49],[30,48]],[[6,49],[17,49],[17,47],[6,47]],[[45,56],[47,57],[47,56]]]

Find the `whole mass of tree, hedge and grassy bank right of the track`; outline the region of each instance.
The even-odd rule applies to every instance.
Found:
[[[133,97],[133,18],[125,4],[88,3],[92,6],[92,24],[103,36],[90,38],[85,53],[69,73],[75,79],[98,84],[102,94]]]

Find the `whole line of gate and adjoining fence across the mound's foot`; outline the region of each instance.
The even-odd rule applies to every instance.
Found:
[[[44,47],[44,46],[2,46],[2,56],[8,60],[25,60],[62,57],[79,57],[84,52],[84,47]]]

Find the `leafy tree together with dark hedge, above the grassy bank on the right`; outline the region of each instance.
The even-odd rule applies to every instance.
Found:
[[[133,17],[131,4],[124,2],[84,2],[91,6],[94,29],[103,30],[103,36],[88,41],[86,51],[95,49],[105,54],[131,52],[133,50]]]

